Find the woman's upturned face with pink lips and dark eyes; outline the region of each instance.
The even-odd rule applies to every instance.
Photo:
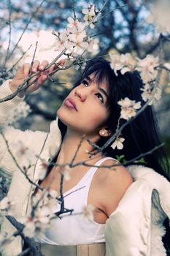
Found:
[[[92,73],[72,89],[58,109],[57,116],[67,128],[70,127],[81,135],[96,135],[109,117],[107,95],[107,84],[98,85]],[[74,101],[76,109],[68,102],[68,98]]]

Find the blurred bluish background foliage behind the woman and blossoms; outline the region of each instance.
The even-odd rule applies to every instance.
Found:
[[[61,31],[66,27],[67,18],[73,17],[72,1],[69,0],[49,0],[43,1],[25,0],[1,0],[0,2],[0,69],[7,70],[12,64],[22,56],[23,46],[26,41],[29,44],[35,44],[35,39],[32,35],[39,37],[42,31]],[[103,0],[92,1],[98,9],[104,4]],[[132,53],[133,56],[144,58],[147,54],[158,55],[158,37],[155,34],[154,24],[146,22],[149,15],[149,7],[152,1],[149,0],[109,0],[104,8],[100,19],[92,35],[96,36],[96,46],[92,53],[88,53],[85,58],[93,56],[106,56],[109,50],[119,53]],[[75,10],[77,18],[81,19],[82,7],[87,7],[87,1],[75,1]],[[120,6],[123,6],[120,8]],[[36,11],[37,7],[39,9]],[[118,8],[118,9],[116,9]],[[11,13],[11,15],[9,15]],[[7,56],[7,42],[9,40],[9,29],[11,27],[11,42],[9,48],[9,58]],[[15,48],[15,43],[18,42],[20,35],[26,30],[27,37],[25,41],[20,40],[18,47]],[[40,43],[39,48],[43,48],[47,41],[45,37]],[[27,43],[28,43],[27,42]],[[15,50],[12,50],[14,49]],[[55,48],[55,42],[49,45],[50,50]],[[45,49],[44,49],[45,50]],[[49,49],[48,49],[49,50]],[[164,57],[168,62],[170,59],[169,43],[163,44]],[[10,54],[12,53],[12,54]],[[23,61],[26,60],[29,52],[23,56],[23,59],[15,67],[18,68]],[[53,50],[53,57],[57,53]],[[38,58],[38,56],[36,56]],[[50,58],[50,55],[49,55]],[[107,56],[106,56],[107,58]],[[6,59],[6,60],[5,60]],[[47,60],[48,56],[47,56]],[[1,82],[8,77],[12,77],[15,69],[8,74],[2,76]],[[56,83],[48,80],[39,91],[26,97],[26,102],[31,106],[31,113],[27,118],[20,120],[16,127],[20,129],[41,129],[48,130],[49,123],[55,119],[55,112],[61,105],[63,99],[68,94],[69,88],[79,77],[81,69],[75,68],[60,71],[54,75],[53,79]],[[170,158],[170,86],[169,75],[163,72],[161,78],[161,86],[163,88],[163,97],[161,102],[155,106],[158,121],[161,127],[161,136],[166,142],[165,149]]]

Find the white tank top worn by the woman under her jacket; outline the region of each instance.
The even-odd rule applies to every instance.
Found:
[[[114,158],[104,157],[95,165],[101,165],[107,159]],[[87,221],[80,214],[83,206],[88,205],[88,192],[96,170],[98,170],[98,167],[91,167],[76,186],[63,194],[64,206],[68,209],[74,209],[73,215],[62,214],[61,217],[64,215],[66,217],[55,219],[53,227],[50,227],[45,234],[36,236],[36,241],[54,245],[93,244],[105,241],[105,224]],[[58,210],[59,208],[56,208],[56,211]]]

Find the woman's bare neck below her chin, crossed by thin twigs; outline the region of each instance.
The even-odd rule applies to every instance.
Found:
[[[85,161],[86,159],[90,158],[91,154],[89,154],[88,152],[93,151],[94,148],[88,143],[87,139],[95,143],[99,139],[98,136],[99,135],[88,135],[88,136],[85,135],[85,137],[82,139],[82,135],[77,134],[77,132],[74,132],[70,129],[67,129],[66,135],[63,138],[61,150],[58,154],[58,161],[57,161],[58,164],[63,164],[63,163],[69,164],[72,162],[73,158],[74,158],[74,163]],[[80,146],[81,140],[82,140],[82,143]],[[94,150],[93,152],[96,152],[96,150]],[[96,159],[96,157],[101,157],[101,156],[102,156],[102,153],[99,152],[92,158]]]

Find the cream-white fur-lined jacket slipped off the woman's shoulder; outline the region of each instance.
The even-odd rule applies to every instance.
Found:
[[[8,81],[0,86],[0,98],[11,94]],[[8,102],[0,104],[0,123],[4,124],[10,116],[10,110],[20,105],[23,99],[15,97]],[[4,135],[9,146],[15,147],[20,140],[40,158],[48,160],[54,155],[61,144],[61,133],[58,129],[58,120],[50,124],[50,132],[22,132],[13,127],[5,127]],[[43,149],[42,149],[43,148]],[[17,157],[17,156],[16,156]],[[20,165],[24,159],[18,159]],[[0,135],[0,167],[12,173],[12,183],[9,187],[8,197],[15,202],[13,212],[15,217],[24,216],[29,206],[29,197],[33,187],[25,176],[20,173],[12,157],[7,151],[6,143]],[[34,182],[39,180],[41,167],[39,160],[36,166],[29,169],[30,178]],[[163,220],[170,218],[170,183],[154,170],[142,165],[128,167],[134,183],[127,189],[117,209],[107,219],[106,248],[107,256],[165,256],[161,238],[165,233]],[[1,233],[12,234],[15,228],[4,220]],[[4,249],[3,256],[17,256],[21,252],[21,240],[15,238]]]

